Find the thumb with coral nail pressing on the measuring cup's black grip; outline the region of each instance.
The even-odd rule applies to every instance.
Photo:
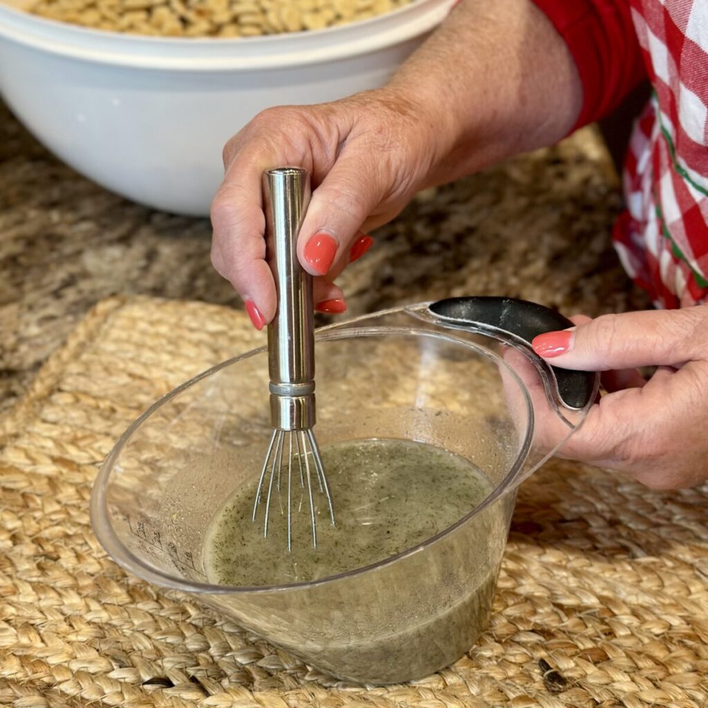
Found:
[[[564,369],[679,366],[708,354],[707,313],[699,306],[607,314],[570,329],[539,334],[532,347]]]

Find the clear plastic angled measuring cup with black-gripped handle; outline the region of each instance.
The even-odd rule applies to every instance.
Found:
[[[322,446],[426,442],[468,459],[491,483],[457,523],[396,556],[306,583],[208,581],[210,522],[260,473],[268,444],[264,348],[191,379],[130,426],[93,488],[96,535],[128,571],[198,593],[333,675],[392,683],[432,673],[486,627],[515,490],[581,425],[597,395],[597,375],[554,371],[528,344],[569,325],[532,303],[459,298],[316,333]]]

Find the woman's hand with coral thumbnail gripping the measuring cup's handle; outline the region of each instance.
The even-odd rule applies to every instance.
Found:
[[[609,393],[561,454],[656,489],[708,479],[708,304],[573,321],[533,348],[554,366],[605,372]],[[642,366],[658,367],[648,382]]]

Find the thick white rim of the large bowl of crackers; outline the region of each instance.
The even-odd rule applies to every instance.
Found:
[[[365,20],[258,37],[161,37],[72,25],[0,0],[0,38],[55,55],[143,69],[255,71],[366,55],[430,32],[455,0],[413,0]]]

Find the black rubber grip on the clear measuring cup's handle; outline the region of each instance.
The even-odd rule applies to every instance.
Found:
[[[449,297],[433,302],[429,309],[445,321],[491,334],[510,334],[529,346],[539,334],[573,326],[559,312],[515,297]],[[581,409],[590,403],[595,394],[595,372],[554,366],[549,366],[549,370],[556,379],[558,394],[566,406]]]

